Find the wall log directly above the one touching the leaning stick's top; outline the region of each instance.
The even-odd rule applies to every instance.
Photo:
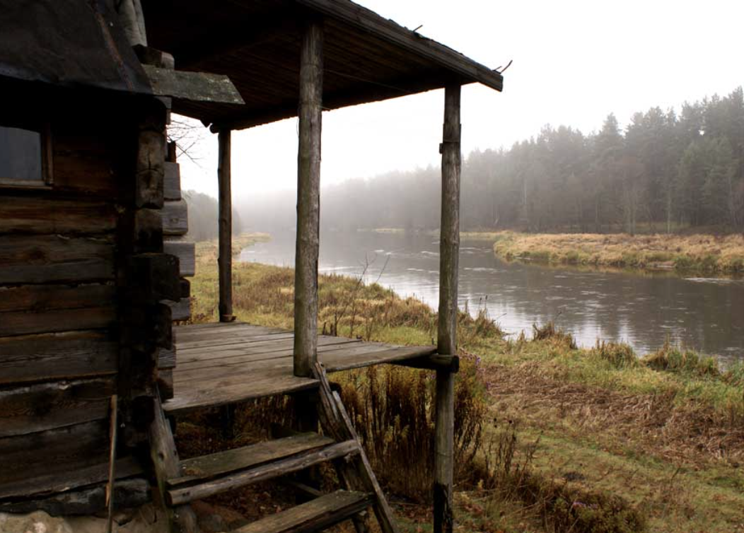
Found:
[[[0,384],[108,375],[118,343],[107,332],[0,337]]]

